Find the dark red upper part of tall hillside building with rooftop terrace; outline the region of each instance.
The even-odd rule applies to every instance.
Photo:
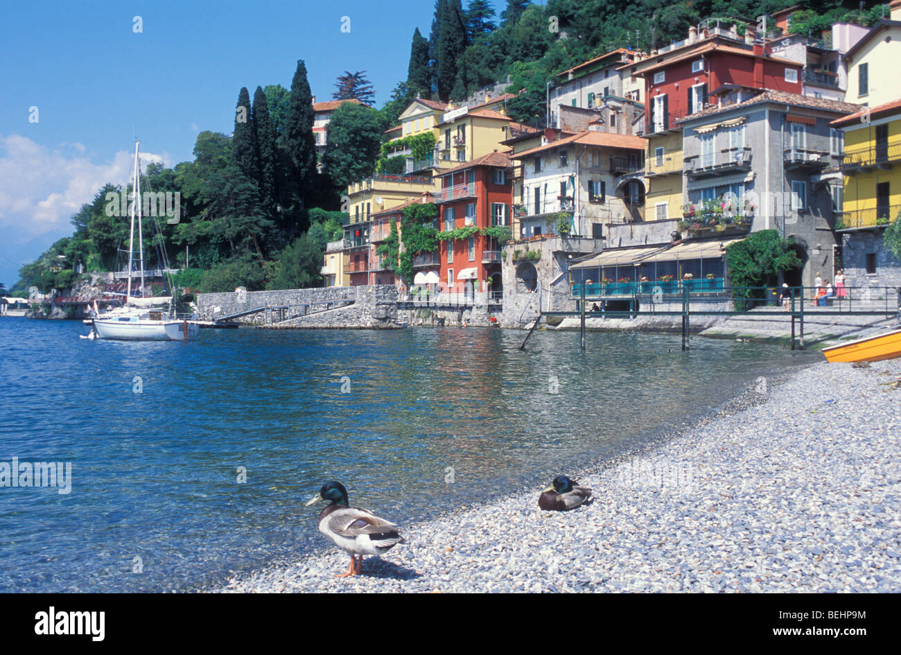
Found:
[[[748,28],[749,31],[751,28]],[[718,96],[719,105],[744,99],[742,88],[771,89],[801,94],[802,64],[772,57],[769,45],[754,42],[751,32],[742,40],[735,32],[711,29],[623,69],[644,77],[648,99],[645,121],[652,134],[675,127],[675,121],[695,114]]]

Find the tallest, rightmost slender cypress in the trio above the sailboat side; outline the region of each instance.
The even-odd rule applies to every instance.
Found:
[[[306,79],[306,66],[303,59],[298,59],[280,144],[287,155],[290,203],[297,209],[303,208],[306,198],[312,195],[316,175],[313,118],[313,94]]]

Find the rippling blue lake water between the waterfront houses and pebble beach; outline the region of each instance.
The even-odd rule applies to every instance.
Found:
[[[0,592],[216,585],[323,547],[303,502],[327,479],[411,523],[546,484],[818,357],[639,333],[589,333],[582,355],[577,332],[536,332],[526,352],[489,329],[86,332],[0,319],[0,462],[72,463],[68,495],[0,487]]]

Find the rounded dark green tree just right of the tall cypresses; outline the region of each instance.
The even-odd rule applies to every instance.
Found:
[[[337,189],[369,177],[375,171],[385,123],[377,110],[344,103],[332,114],[323,172]]]

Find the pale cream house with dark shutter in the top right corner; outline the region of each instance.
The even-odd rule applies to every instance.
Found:
[[[901,61],[901,9],[892,7],[892,20],[873,25],[866,36],[845,53],[848,68],[846,103],[884,105],[898,95],[897,68]]]

